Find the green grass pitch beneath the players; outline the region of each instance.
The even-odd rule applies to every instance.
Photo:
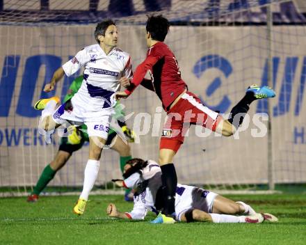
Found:
[[[278,223],[175,223],[152,225],[106,215],[108,203],[130,211],[122,196],[90,196],[83,216],[72,213],[77,196],[0,198],[0,244],[306,244],[306,195],[232,195],[257,211],[271,212]]]

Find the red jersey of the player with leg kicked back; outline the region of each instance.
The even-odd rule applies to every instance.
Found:
[[[147,51],[147,58],[136,68],[131,86],[124,90],[127,95],[130,95],[143,81],[147,71],[150,72],[154,91],[161,99],[163,109],[168,111],[170,104],[187,86],[181,78],[175,55],[165,43],[156,42]]]

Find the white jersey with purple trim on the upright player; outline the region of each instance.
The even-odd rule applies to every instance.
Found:
[[[69,77],[82,66],[83,83],[72,97],[72,104],[83,106],[86,111],[113,107],[113,94],[120,88],[120,78],[133,76],[129,54],[116,47],[107,55],[98,44],[85,47],[63,65],[63,70]]]

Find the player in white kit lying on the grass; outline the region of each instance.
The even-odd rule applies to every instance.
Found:
[[[108,216],[121,219],[142,220],[148,211],[159,214],[163,207],[161,168],[155,161],[131,159],[124,166],[124,180],[113,180],[120,187],[134,188],[134,207],[131,212],[119,212],[110,203]],[[177,184],[175,195],[175,219],[177,221],[214,223],[276,222],[272,214],[259,214],[241,201],[234,202],[217,193],[185,184]],[[162,219],[162,218],[160,218]],[[171,218],[169,218],[171,219]],[[152,222],[161,223],[161,222]]]

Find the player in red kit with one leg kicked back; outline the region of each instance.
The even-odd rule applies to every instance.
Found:
[[[168,115],[159,147],[159,165],[165,198],[163,214],[159,215],[163,219],[156,218],[162,221],[160,223],[173,223],[171,217],[175,216],[177,174],[172,159],[184,142],[184,134],[190,125],[202,125],[223,136],[231,136],[241,125],[251,102],[264,97],[275,97],[275,92],[271,88],[252,85],[246,90],[242,100],[233,107],[232,117],[224,120],[218,112],[204,106],[196,95],[188,91],[186,83],[181,78],[175,55],[163,42],[169,26],[168,19],[162,15],[148,17],[147,57],[136,68],[134,78],[131,81],[126,80],[127,89],[115,94],[116,100],[127,98],[139,84],[142,84],[154,90]],[[151,80],[144,79],[147,71],[151,74]]]

